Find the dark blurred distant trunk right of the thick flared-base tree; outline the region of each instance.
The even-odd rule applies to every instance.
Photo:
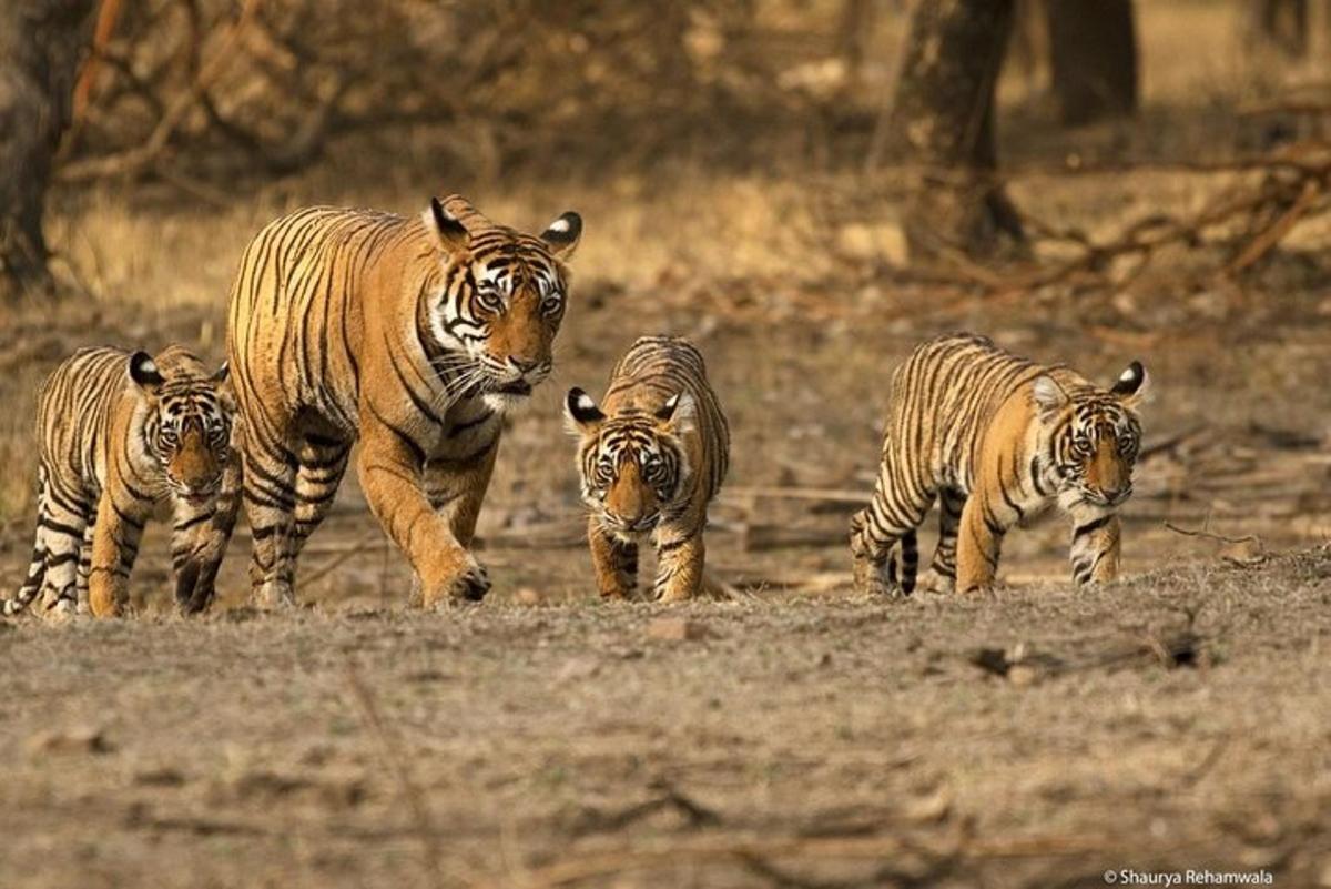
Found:
[[[1131,0],[1045,4],[1058,116],[1089,124],[1137,112],[1137,29]]]

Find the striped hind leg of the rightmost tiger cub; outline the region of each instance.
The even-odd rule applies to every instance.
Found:
[[[884,443],[882,463],[869,506],[851,519],[855,588],[868,595],[909,594],[918,560],[914,530],[933,506],[933,491],[908,482],[897,471],[898,458]],[[901,542],[902,583],[897,582],[893,547]]]

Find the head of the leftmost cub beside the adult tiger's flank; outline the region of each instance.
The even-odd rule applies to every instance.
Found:
[[[189,503],[202,503],[221,488],[236,413],[226,377],[226,363],[212,377],[184,369],[164,375],[148,353],[129,357],[129,378],[148,405],[145,451],[161,466],[172,494]]]

